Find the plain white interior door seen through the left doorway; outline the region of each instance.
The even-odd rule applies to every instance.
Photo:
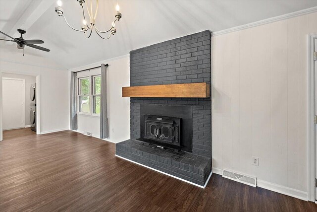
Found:
[[[24,127],[23,81],[2,78],[2,125],[3,130]]]

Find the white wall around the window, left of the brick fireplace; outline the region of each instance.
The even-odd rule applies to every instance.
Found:
[[[107,69],[107,112],[109,121],[109,137],[105,140],[117,143],[130,138],[130,98],[123,98],[121,93],[122,87],[130,86],[129,56],[124,56],[108,61],[101,61],[84,67],[73,69],[71,71],[80,71],[92,67],[97,67],[100,66],[102,63],[109,65]],[[98,71],[98,73],[100,73],[100,69],[98,69]],[[83,72],[78,73],[78,76],[84,76],[85,73]],[[93,132],[93,136],[100,138],[99,117],[82,114],[78,114],[77,117],[77,132]]]

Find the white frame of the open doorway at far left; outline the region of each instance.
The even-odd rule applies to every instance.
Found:
[[[2,73],[13,73],[13,74],[22,74],[22,75],[30,75],[36,77],[36,134],[41,135],[41,100],[40,100],[40,92],[41,92],[41,75],[38,74],[28,74],[24,72],[18,72],[18,71],[1,71],[0,70],[0,141],[3,140],[2,135]]]

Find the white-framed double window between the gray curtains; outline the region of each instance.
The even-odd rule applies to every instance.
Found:
[[[93,75],[78,78],[79,113],[100,114],[101,76]]]

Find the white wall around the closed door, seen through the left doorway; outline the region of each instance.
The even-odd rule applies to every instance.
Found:
[[[30,87],[31,84],[36,82],[36,77],[31,75],[24,74],[12,74],[12,73],[2,73],[2,77],[9,78],[19,78],[25,80],[24,90],[25,90],[25,99],[24,99],[24,114],[25,114],[25,126],[30,126]],[[5,112],[5,111],[4,111]]]

